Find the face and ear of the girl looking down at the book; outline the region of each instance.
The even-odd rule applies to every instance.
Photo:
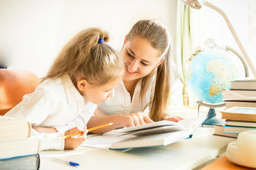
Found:
[[[78,89],[80,89],[80,94],[85,96],[88,101],[99,104],[102,101],[106,101],[107,98],[112,98],[114,96],[114,87],[119,84],[122,77],[119,77],[113,81],[97,86],[95,84],[89,84],[85,79],[78,81]]]

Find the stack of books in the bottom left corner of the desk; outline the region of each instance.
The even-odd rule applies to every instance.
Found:
[[[39,169],[40,142],[31,137],[31,125],[0,116],[0,169]]]

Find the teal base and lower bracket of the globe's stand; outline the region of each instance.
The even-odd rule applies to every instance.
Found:
[[[208,114],[207,114],[207,118],[202,123],[202,125],[214,125],[214,124],[224,124],[225,123],[225,120],[219,118],[215,112],[215,108],[223,107],[223,106],[225,106],[225,103],[213,104],[213,103],[205,103],[203,101],[197,101],[196,103],[198,103],[198,114],[199,114],[199,107],[201,105],[210,108],[208,111]]]

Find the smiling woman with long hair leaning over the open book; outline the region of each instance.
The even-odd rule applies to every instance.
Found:
[[[159,120],[178,121],[166,107],[171,81],[171,36],[160,21],[138,21],[122,47],[125,71],[116,96],[100,103],[87,127],[113,122],[117,126],[144,125]],[[149,116],[142,112],[149,107]],[[94,132],[106,132],[114,126]]]

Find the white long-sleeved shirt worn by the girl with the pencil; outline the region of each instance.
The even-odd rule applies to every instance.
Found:
[[[84,128],[96,108],[96,104],[80,95],[67,76],[46,79],[5,115],[26,120],[32,126],[56,128],[56,133],[33,130],[32,135],[41,140],[41,150],[64,149],[60,136],[70,128]]]

